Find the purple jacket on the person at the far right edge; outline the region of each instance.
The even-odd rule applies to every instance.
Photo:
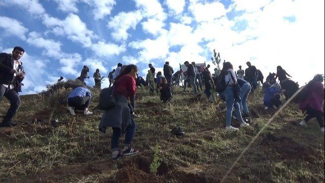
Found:
[[[299,102],[299,109],[306,110],[308,107],[323,112],[324,85],[321,82],[309,83],[308,95],[305,100]]]

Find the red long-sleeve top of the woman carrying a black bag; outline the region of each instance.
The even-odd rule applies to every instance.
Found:
[[[122,95],[126,98],[131,98],[136,95],[136,92],[137,84],[136,79],[134,77],[129,75],[123,75],[115,81],[114,95]]]

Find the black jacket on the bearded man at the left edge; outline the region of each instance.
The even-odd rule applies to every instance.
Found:
[[[14,68],[13,63],[11,62],[11,54],[0,53],[0,84],[10,85],[11,81],[14,78],[14,74],[11,73],[11,70]],[[19,61],[18,72],[24,72],[24,68],[22,67],[22,63]],[[16,77],[14,81],[14,86],[16,92],[21,92],[22,80],[24,78]]]

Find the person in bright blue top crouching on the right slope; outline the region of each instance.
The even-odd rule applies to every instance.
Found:
[[[283,94],[285,89],[281,90],[281,85],[279,83],[274,83],[269,89],[266,90],[264,95],[264,105],[265,109],[270,107],[278,108],[282,105],[280,101],[280,94]]]

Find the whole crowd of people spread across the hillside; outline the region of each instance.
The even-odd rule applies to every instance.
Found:
[[[25,72],[19,59],[23,56],[24,49],[15,47],[12,53],[0,53],[0,102],[3,97],[10,101],[10,108],[3,117],[0,127],[15,126],[12,118],[16,114],[20,106],[20,98],[18,93],[21,92],[22,81]],[[100,121],[99,130],[106,132],[107,127],[113,129],[111,148],[112,158],[114,160],[121,156],[133,155],[138,153],[138,149],[131,146],[132,139],[136,132],[135,95],[137,87],[144,86],[152,93],[160,93],[161,101],[167,103],[173,98],[173,89],[176,86],[183,85],[184,93],[188,92],[188,88],[193,89],[195,95],[203,92],[208,101],[214,104],[218,103],[218,99],[223,100],[226,105],[225,113],[225,129],[239,130],[232,126],[232,118],[237,119],[240,127],[248,127],[250,123],[250,114],[247,105],[248,96],[254,92],[261,82],[264,93],[265,109],[277,109],[282,105],[281,95],[285,95],[286,99],[293,96],[297,92],[299,86],[294,81],[288,79],[291,77],[281,66],[277,67],[276,73],[269,73],[264,82],[263,74],[255,66],[247,62],[248,68],[244,71],[239,66],[237,72],[234,71],[230,62],[224,62],[222,69],[215,68],[214,73],[209,71],[210,65],[198,66],[196,63],[184,63],[186,71],[180,69],[174,73],[173,68],[166,62],[163,73],[155,71],[152,64],[148,65],[148,73],[146,78],[139,76],[138,67],[135,65],[117,64],[116,69],[108,74],[109,86],[113,87],[114,106],[103,110],[103,116]],[[82,83],[88,76],[89,68],[84,66],[80,76],[77,78]],[[164,75],[163,75],[164,74]],[[101,88],[104,77],[101,77],[100,70],[97,69],[93,74],[96,88]],[[276,80],[279,80],[279,83]],[[307,122],[315,117],[324,133],[324,85],[323,76],[317,74],[298,95],[297,102],[299,109],[305,114],[306,118],[301,121],[301,126],[307,126]],[[294,87],[293,87],[294,86]],[[203,87],[205,87],[203,89]],[[293,89],[294,88],[294,89]],[[102,92],[104,89],[102,90]],[[91,102],[91,92],[86,85],[73,88],[69,96],[67,96],[68,110],[71,115],[76,115],[76,111],[83,112],[84,115],[91,115],[88,111]],[[234,115],[233,115],[234,110]],[[119,149],[119,138],[125,134],[124,147]]]

